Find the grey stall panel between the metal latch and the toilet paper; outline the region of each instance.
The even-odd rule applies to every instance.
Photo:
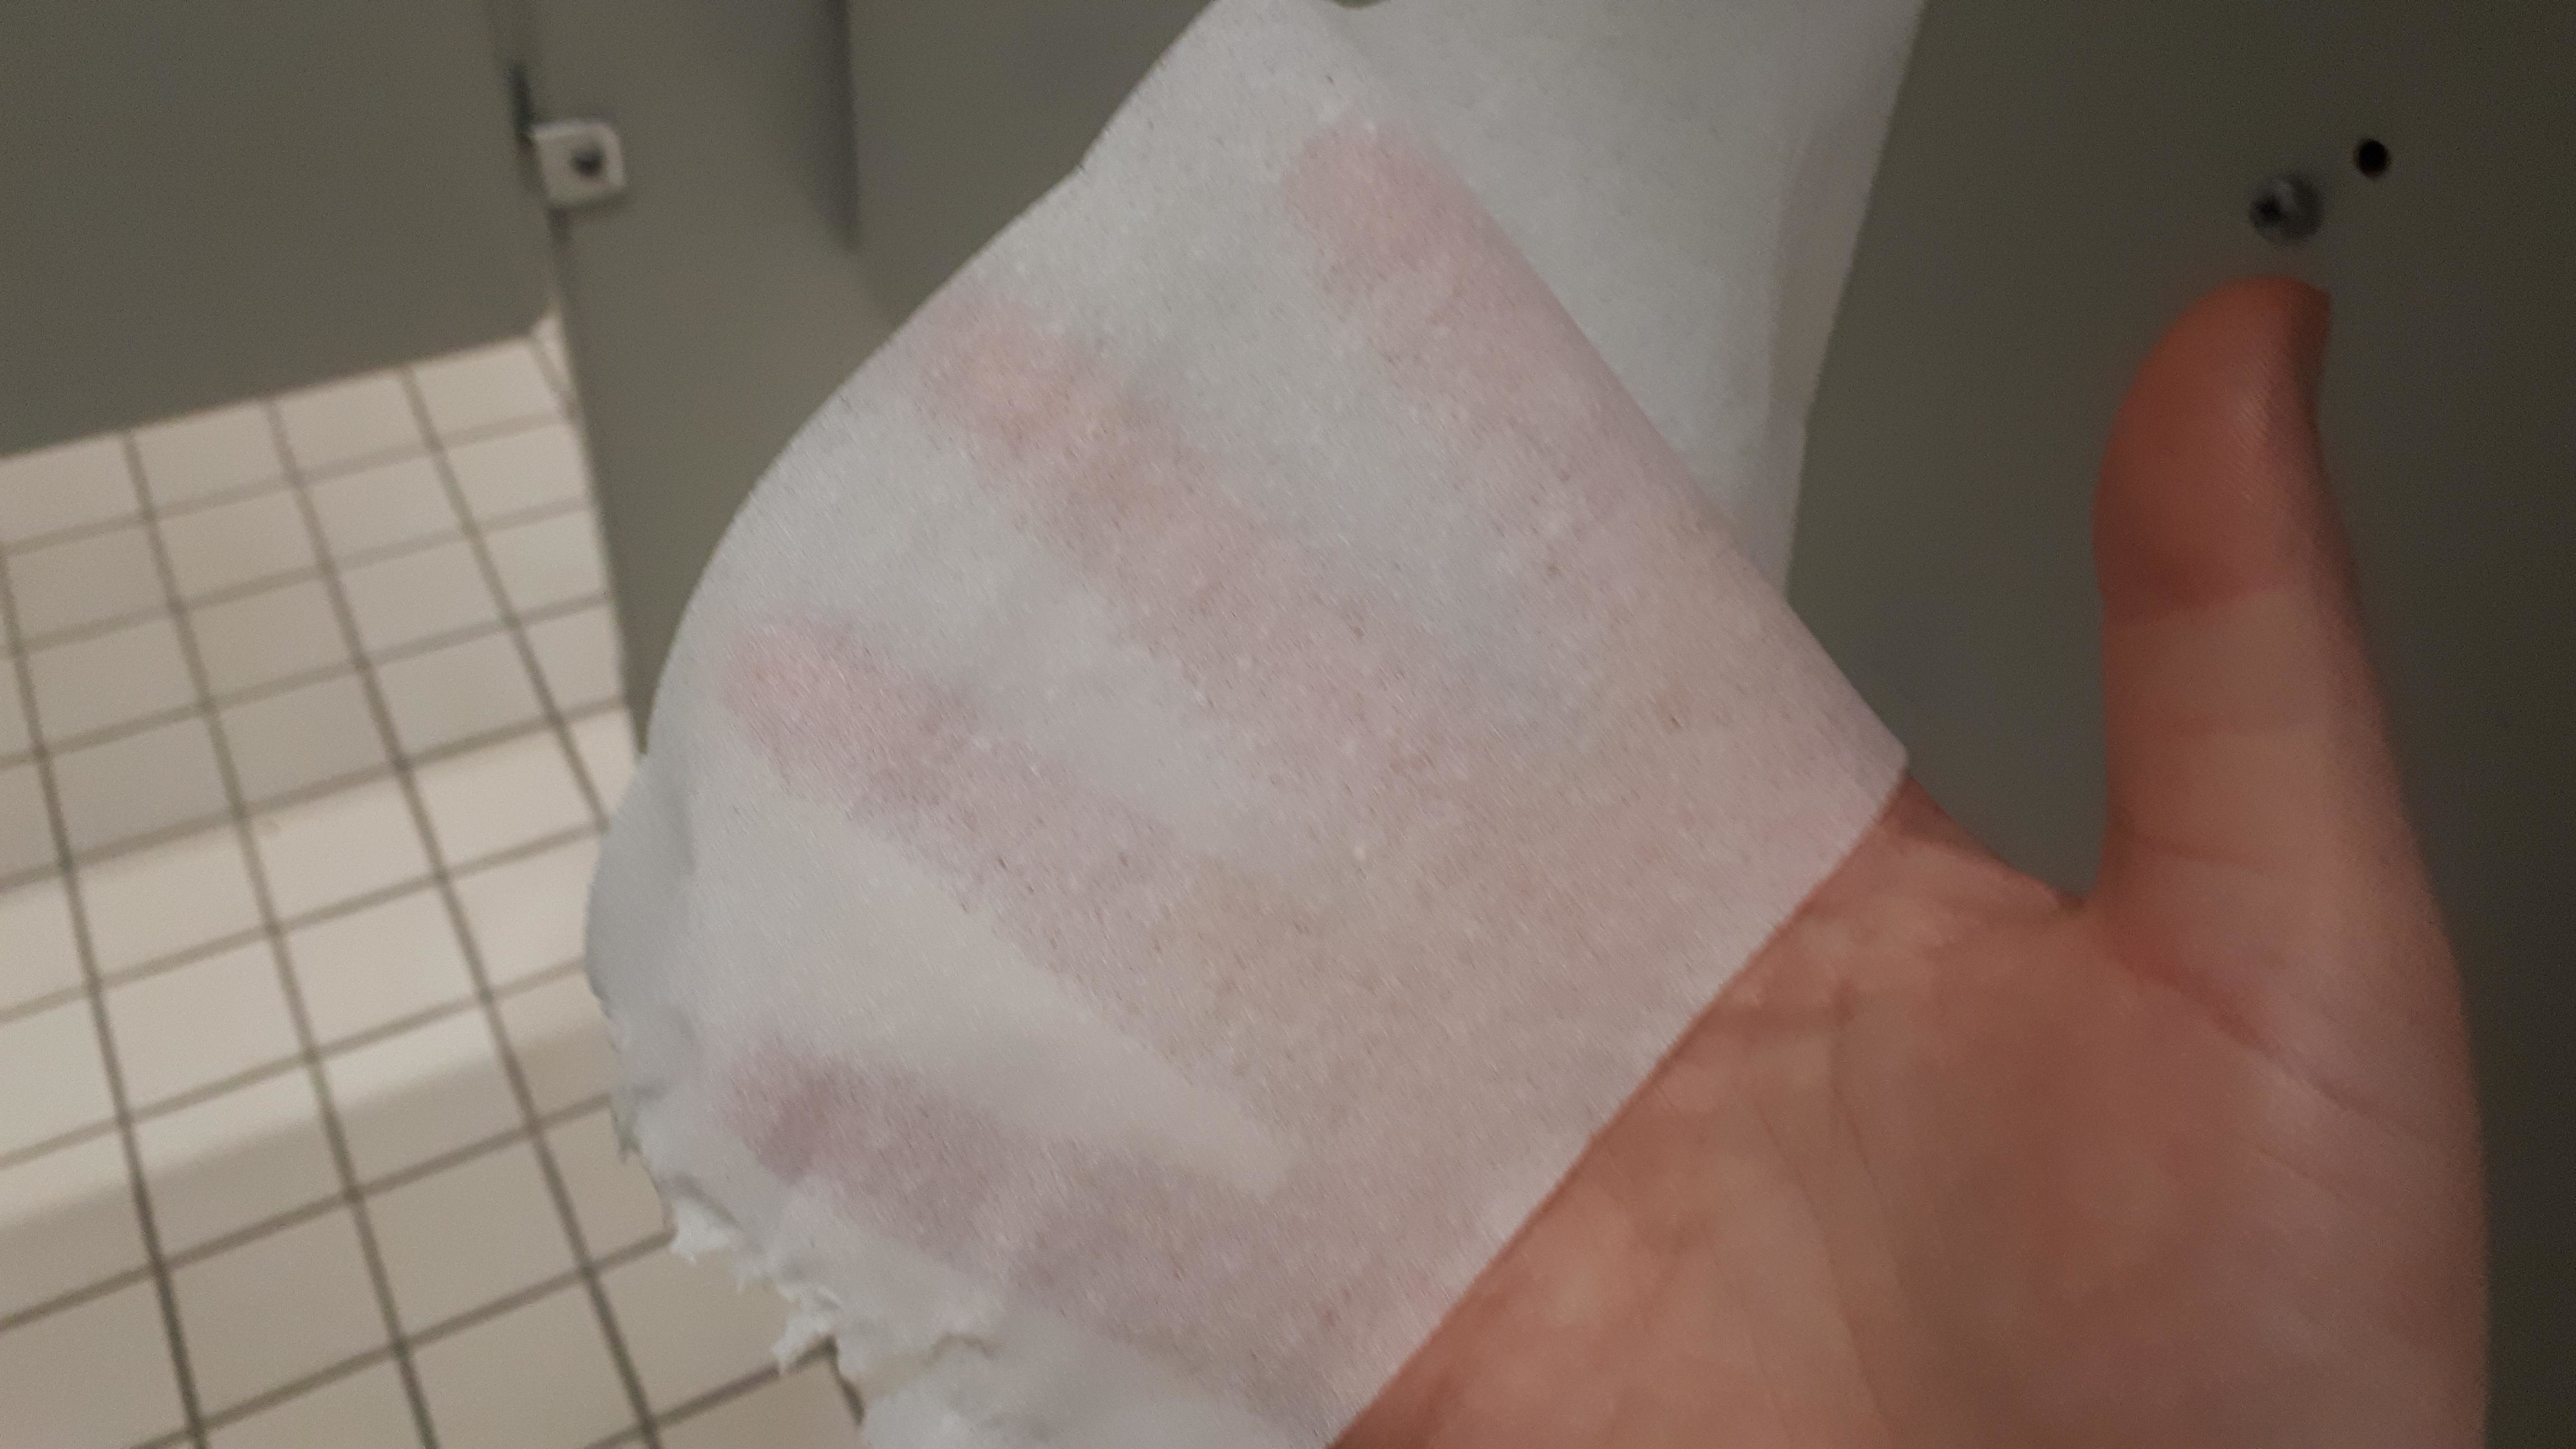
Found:
[[[541,119],[626,188],[556,214],[629,699],[788,433],[1064,175],[1203,0],[528,0]]]

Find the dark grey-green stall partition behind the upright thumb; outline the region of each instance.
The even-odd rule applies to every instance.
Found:
[[[2563,0],[1929,0],[1790,565],[1932,794],[2087,884],[2112,407],[2205,286],[2334,291],[2326,451],[2470,987],[2506,1446],[2576,1444],[2571,85]],[[2277,175],[2321,204],[2295,245],[2254,227]]]

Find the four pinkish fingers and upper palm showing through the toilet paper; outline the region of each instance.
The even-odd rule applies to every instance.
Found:
[[[1270,771],[1293,802],[1273,859],[1193,853],[971,683],[891,663],[860,624],[770,619],[726,660],[729,704],[791,789],[886,828],[1185,1075],[1329,1147],[1252,1201],[1139,1152],[1038,1137],[938,1080],[770,1047],[729,1088],[752,1150],[786,1181],[832,1183],[855,1222],[1012,1292],[1180,1361],[1257,1364],[1257,1397],[1332,1379],[1350,1356],[1265,1338],[1273,1312],[1316,1307],[1309,1284],[1350,1281],[1342,1261],[1278,1261],[1265,1243],[1376,1253],[1381,1279],[1412,1281],[1473,1232],[1412,1222],[1414,1238],[1352,1243],[1352,1181],[1443,1181],[1448,1155],[1468,1173],[1497,1150],[1352,1104],[1520,1101],[1522,1075],[1633,1070],[1633,1044],[1564,1024],[1595,990],[1690,977],[1708,882],[1741,866],[1710,841],[1741,838],[1734,792],[1759,773],[1721,758],[1736,740],[1708,681],[1759,632],[1744,601],[1762,585],[1499,227],[1373,126],[1316,139],[1288,204],[1327,307],[1455,459],[1404,485],[1468,500],[1497,554],[1528,565],[1512,580],[1543,657],[1569,670],[1574,737],[1497,724],[1512,714],[1432,634],[1352,603],[1329,552],[1229,487],[1242,464],[1092,345],[992,294],[948,294],[914,322],[917,405],[1123,634],[1200,691],[1247,768]],[[1425,1021],[1440,1039],[1406,1034]],[[1234,1052],[1244,1036],[1257,1047]],[[1363,1341],[1342,1307],[1319,1320]]]

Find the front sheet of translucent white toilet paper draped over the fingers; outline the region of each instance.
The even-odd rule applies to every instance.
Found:
[[[1345,26],[1218,0],[814,415],[608,835],[621,1122],[878,1449],[1327,1444],[1901,768]]]

